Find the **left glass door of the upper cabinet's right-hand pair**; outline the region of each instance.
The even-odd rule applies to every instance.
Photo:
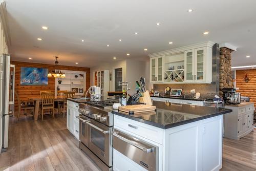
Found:
[[[185,51],[185,82],[193,82],[194,76],[194,50]]]

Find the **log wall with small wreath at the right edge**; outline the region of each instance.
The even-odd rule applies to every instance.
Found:
[[[250,78],[249,82],[244,81],[246,74]],[[256,69],[236,70],[236,87],[239,88],[237,92],[241,93],[241,96],[250,97],[250,101],[254,102],[256,107]]]

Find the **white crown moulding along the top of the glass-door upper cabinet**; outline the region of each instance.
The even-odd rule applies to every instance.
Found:
[[[184,46],[184,47],[175,48],[175,49],[166,50],[166,51],[161,51],[161,52],[157,52],[157,53],[152,53],[152,54],[149,54],[148,56],[149,57],[157,57],[157,56],[161,56],[161,55],[169,55],[169,54],[174,54],[174,53],[180,53],[180,52],[184,52],[184,51],[187,51],[187,50],[197,49],[197,48],[202,48],[202,47],[212,48],[212,46],[214,46],[214,44],[215,43],[212,42],[212,41],[205,41],[205,42],[201,42],[199,44]]]

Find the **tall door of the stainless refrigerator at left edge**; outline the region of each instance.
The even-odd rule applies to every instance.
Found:
[[[9,84],[10,84],[10,55],[3,54],[3,73],[2,73],[2,125],[3,125],[3,148],[8,147],[9,132]]]

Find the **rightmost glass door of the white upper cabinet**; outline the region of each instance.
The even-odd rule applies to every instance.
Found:
[[[205,58],[206,48],[195,49],[195,81],[201,82],[205,80]]]

